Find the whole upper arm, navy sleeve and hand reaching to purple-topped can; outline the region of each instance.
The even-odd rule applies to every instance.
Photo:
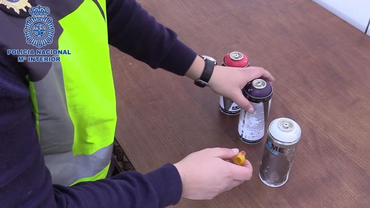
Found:
[[[176,33],[150,16],[135,0],[108,0],[109,43],[152,68],[163,68],[192,80],[201,77],[204,60],[177,39]],[[241,89],[253,79],[272,75],[261,67],[235,68],[215,66],[208,86],[217,94],[231,98],[253,113],[252,104]]]

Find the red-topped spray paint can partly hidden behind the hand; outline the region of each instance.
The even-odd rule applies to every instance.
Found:
[[[226,54],[222,59],[222,66],[228,67],[248,67],[249,58],[238,51]],[[227,115],[237,115],[240,113],[240,107],[229,98],[220,95],[220,110]]]

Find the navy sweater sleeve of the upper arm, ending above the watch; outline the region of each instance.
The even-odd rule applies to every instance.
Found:
[[[107,23],[109,43],[152,68],[183,76],[195,60],[195,51],[135,0],[109,0]]]

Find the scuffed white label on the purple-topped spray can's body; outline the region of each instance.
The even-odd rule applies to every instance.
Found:
[[[239,117],[238,133],[245,140],[255,142],[265,134],[265,106],[263,102],[251,103],[255,111],[251,114],[242,110]],[[271,100],[268,101],[270,106]]]

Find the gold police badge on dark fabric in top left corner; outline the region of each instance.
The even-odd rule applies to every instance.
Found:
[[[0,0],[0,9],[19,17],[28,17],[27,9],[35,5],[35,0]]]

